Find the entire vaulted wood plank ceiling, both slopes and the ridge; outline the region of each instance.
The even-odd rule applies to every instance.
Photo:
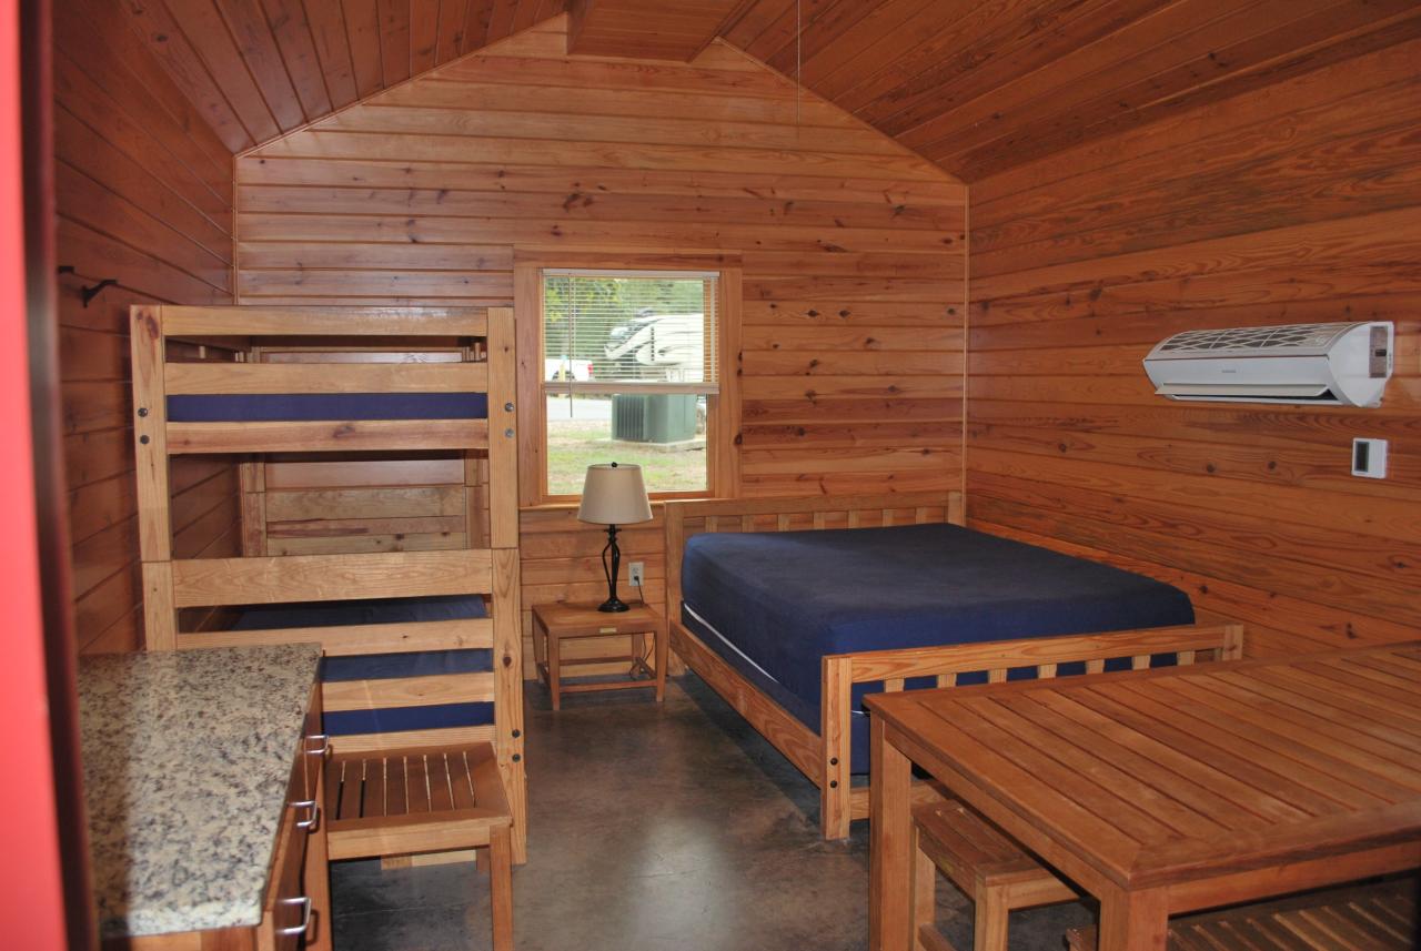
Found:
[[[1417,0],[124,3],[233,150],[570,10],[576,53],[716,37],[972,182],[1421,35]]]

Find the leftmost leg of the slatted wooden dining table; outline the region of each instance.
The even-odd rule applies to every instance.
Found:
[[[911,951],[912,764],[887,738],[881,718],[871,724],[868,948]]]

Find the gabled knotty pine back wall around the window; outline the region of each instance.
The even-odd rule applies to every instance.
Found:
[[[514,253],[735,253],[740,491],[961,485],[962,186],[728,47],[564,51],[558,17],[239,158],[240,302],[506,304]],[[605,590],[604,541],[526,511],[524,608]],[[662,603],[659,515],[622,548]]]

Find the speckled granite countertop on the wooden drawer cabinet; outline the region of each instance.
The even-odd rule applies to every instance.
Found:
[[[84,785],[104,937],[261,921],[318,664],[314,644],[81,661]]]

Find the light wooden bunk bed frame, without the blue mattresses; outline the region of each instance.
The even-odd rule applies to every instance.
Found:
[[[252,338],[340,338],[320,349],[388,351],[391,339],[459,349],[450,362],[263,362]],[[361,348],[365,341],[368,346]],[[469,341],[475,345],[452,345]],[[514,860],[526,857],[523,660],[519,589],[517,439],[510,308],[135,307],[132,361],[138,518],[149,650],[318,643],[330,656],[489,649],[490,673],[323,684],[327,711],[493,703],[495,722],[338,737],[340,754],[492,742],[513,813]],[[230,361],[190,358],[217,349]],[[175,359],[178,356],[179,359]],[[169,423],[168,396],[250,393],[487,395],[487,419]],[[267,453],[459,450],[463,546],[431,551],[267,554],[260,463]],[[237,454],[243,484],[243,558],[175,559],[169,458]],[[257,460],[257,461],[253,461]],[[472,528],[477,525],[477,531]],[[477,542],[479,546],[469,546]],[[180,632],[179,612],[308,600],[483,595],[487,617],[281,630]]]

